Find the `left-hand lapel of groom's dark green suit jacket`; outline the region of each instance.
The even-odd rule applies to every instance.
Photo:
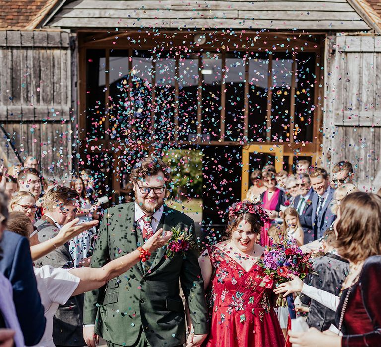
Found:
[[[116,216],[118,218],[118,216]],[[143,236],[141,232],[139,232],[139,228],[137,227],[137,223],[135,222],[135,203],[131,202],[127,205],[126,208],[126,237],[122,238],[120,248],[125,250],[127,253],[132,253],[138,247],[143,244]],[[141,240],[139,239],[139,234],[141,236]],[[125,240],[125,242],[123,241]],[[144,275],[143,266],[141,261],[136,264],[136,267],[140,271],[141,275]]]

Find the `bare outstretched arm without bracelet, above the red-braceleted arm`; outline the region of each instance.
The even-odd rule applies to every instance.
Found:
[[[44,255],[47,255],[58,247],[64,245],[73,237],[79,235],[81,232],[95,227],[98,224],[98,221],[77,224],[78,222],[79,218],[75,218],[71,222],[65,224],[55,237],[31,246],[30,253],[32,255],[32,261],[36,261]]]

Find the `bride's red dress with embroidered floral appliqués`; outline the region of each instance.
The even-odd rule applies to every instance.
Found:
[[[272,290],[259,286],[261,268],[247,272],[221,249],[208,247],[213,274],[207,291],[211,314],[207,347],[284,347]]]

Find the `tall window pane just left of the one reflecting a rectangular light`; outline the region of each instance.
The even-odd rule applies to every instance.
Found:
[[[192,141],[197,133],[198,57],[179,59],[179,139]]]

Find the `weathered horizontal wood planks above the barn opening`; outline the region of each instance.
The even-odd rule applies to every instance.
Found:
[[[46,25],[369,30],[347,0],[77,0]]]

